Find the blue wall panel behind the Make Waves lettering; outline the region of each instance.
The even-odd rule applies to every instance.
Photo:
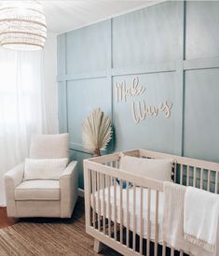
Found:
[[[175,106],[175,72],[154,73],[138,75],[139,86],[145,87],[145,92],[136,97],[128,97],[127,101],[117,101],[116,83],[126,81],[127,87],[133,82],[135,76],[116,77],[113,83],[113,117],[116,129],[116,151],[124,149],[153,149],[166,152],[174,152],[174,140],[178,139],[175,121],[177,112]],[[170,106],[157,115],[146,112],[144,120],[139,121],[140,111],[144,113],[144,107],[153,109],[160,104]],[[171,107],[172,104],[172,107]],[[165,115],[171,111],[171,116]],[[133,112],[134,111],[134,112]],[[134,115],[133,115],[134,113]],[[136,121],[139,121],[136,123]]]

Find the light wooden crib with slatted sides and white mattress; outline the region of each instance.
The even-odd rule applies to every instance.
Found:
[[[174,159],[174,182],[218,193],[219,164],[144,149],[123,153]],[[95,238],[94,250],[105,244],[123,255],[184,255],[162,241],[162,181],[119,169],[119,153],[85,160],[84,179],[86,232]]]

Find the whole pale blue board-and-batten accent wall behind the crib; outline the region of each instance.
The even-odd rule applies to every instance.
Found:
[[[212,10],[212,15],[215,17],[207,13],[207,18],[205,18],[203,13],[206,12],[207,7],[209,11]],[[69,34],[59,36],[57,81],[59,83],[61,132],[69,132],[71,134],[75,133],[76,130],[77,134],[79,134],[78,131],[81,129],[81,116],[77,115],[78,106],[75,106],[76,104],[80,105],[80,102],[75,99],[74,95],[76,94],[83,96],[83,99],[85,98],[84,105],[80,105],[80,108],[83,108],[83,113],[88,113],[89,109],[91,110],[91,108],[96,107],[96,104],[100,104],[103,106],[103,110],[107,115],[111,117],[113,123],[116,125],[116,133],[121,135],[121,137],[116,137],[115,145],[111,145],[112,149],[119,143],[120,148],[127,145],[123,142],[128,139],[130,140],[130,148],[131,145],[135,145],[135,141],[141,144],[142,141],[144,141],[145,131],[151,132],[152,136],[154,135],[154,131],[150,126],[151,123],[153,123],[156,129],[158,127],[160,133],[163,133],[163,137],[165,137],[165,135],[167,135],[169,139],[171,137],[171,146],[167,146],[169,141],[166,141],[166,146],[164,145],[161,149],[164,151],[169,150],[171,153],[178,155],[187,155],[187,151],[189,150],[188,147],[185,149],[185,139],[188,139],[189,136],[187,134],[185,136],[185,130],[186,133],[188,133],[189,129],[187,128],[187,123],[185,123],[185,118],[191,118],[191,116],[186,116],[188,113],[188,107],[185,106],[187,102],[186,97],[188,97],[189,100],[191,100],[190,96],[192,98],[194,97],[197,107],[198,104],[201,106],[201,103],[197,104],[198,98],[196,94],[189,95],[189,93],[186,94],[185,92],[190,90],[192,93],[195,93],[196,91],[191,87],[195,86],[195,88],[198,88],[196,87],[197,82],[201,84],[201,90],[203,90],[203,92],[205,92],[205,86],[209,86],[210,84],[213,84],[213,90],[214,92],[216,91],[214,81],[211,81],[211,79],[212,76],[217,76],[215,69],[219,68],[219,36],[214,33],[214,31],[217,31],[218,27],[218,24],[215,23],[215,21],[218,21],[219,17],[219,13],[218,17],[216,15],[217,9],[219,10],[219,2],[212,3],[212,1],[208,1],[202,3],[201,1],[195,1],[187,3],[186,1],[166,1],[150,8],[143,8],[134,13],[112,18],[108,21],[96,23],[86,28],[72,31]],[[206,31],[203,29],[206,29]],[[211,42],[208,40],[209,32],[211,38],[214,38]],[[93,38],[92,33],[94,34]],[[76,35],[74,36],[74,34]],[[202,34],[203,37],[198,37]],[[79,40],[80,38],[89,38],[90,45],[92,46],[88,52],[89,63],[91,65],[90,69],[85,62],[78,62],[78,64],[81,64],[78,69],[77,66],[71,65],[71,61],[77,64],[77,60],[80,58],[80,56],[75,56],[77,52],[86,56],[85,51],[89,50],[89,40]],[[196,48],[193,40],[197,42],[198,39],[200,43]],[[74,40],[78,41],[75,42]],[[98,42],[98,48],[96,49],[95,42]],[[82,47],[82,49],[75,50],[72,48],[74,45]],[[208,52],[208,46],[210,53]],[[191,49],[193,49],[193,51]],[[217,49],[218,54],[212,56],[212,52],[215,53]],[[193,53],[195,53],[195,55],[193,55]],[[95,62],[92,62],[90,56],[97,58]],[[198,56],[198,58],[192,59],[190,58],[192,56]],[[149,61],[145,60],[147,57]],[[187,59],[185,57],[187,57]],[[68,62],[66,61],[67,59]],[[70,68],[67,65],[71,65]],[[68,73],[67,70],[69,70]],[[76,71],[80,73],[76,73]],[[205,74],[202,80],[206,80],[206,85],[198,78],[200,72]],[[160,119],[160,124],[157,124],[158,121],[156,122],[155,119],[149,120],[148,118],[143,124],[145,129],[143,129],[141,125],[133,126],[129,120],[129,116],[126,116],[127,120],[121,123],[123,117],[121,112],[118,113],[118,109],[121,111],[130,111],[130,106],[128,104],[127,107],[122,108],[121,105],[118,106],[115,104],[114,83],[115,81],[126,80],[128,86],[130,86],[131,79],[136,76],[142,79],[141,82],[143,82],[143,85],[147,89],[150,88],[150,92],[146,92],[144,95],[146,101],[153,101],[155,99],[159,101],[159,97],[163,96],[168,98],[166,92],[170,92],[172,98],[168,100],[174,101],[172,107],[172,119],[174,120],[172,121],[171,119],[169,121],[173,129],[172,127],[167,129],[167,122],[164,119],[162,120],[162,118]],[[158,87],[159,84],[160,87]],[[85,92],[80,93],[80,88],[81,91],[84,90]],[[159,92],[155,92],[155,97],[153,98],[152,96],[150,98],[152,95],[150,93],[153,92],[154,88],[157,88]],[[94,97],[92,101],[90,97],[94,95],[92,93],[93,90],[96,90],[95,93],[98,95],[97,98]],[[205,96],[208,97],[208,95]],[[87,100],[86,97],[88,97]],[[164,99],[162,98],[162,100]],[[209,102],[211,102],[211,100],[209,100]],[[75,112],[72,111],[73,108]],[[78,109],[78,111],[80,111],[80,109]],[[203,109],[202,112],[204,112]],[[209,113],[200,114],[197,110],[197,112],[193,114],[193,119],[205,118],[209,120]],[[78,118],[80,121],[75,120]],[[69,121],[70,123],[68,123]],[[71,125],[73,121],[76,122],[75,125],[77,128]],[[164,125],[162,125],[162,121],[165,122]],[[191,122],[194,123],[194,121]],[[209,123],[210,122],[212,126],[215,124],[213,120],[209,121]],[[204,122],[201,123],[203,125]],[[132,130],[129,130],[130,126]],[[166,129],[165,131],[163,130],[164,127]],[[213,129],[214,127],[212,127],[212,130]],[[121,130],[123,130],[123,133],[121,133]],[[194,133],[198,133],[198,131],[190,132],[193,136]],[[156,140],[159,135],[155,135],[152,139]],[[166,138],[164,138],[164,141],[165,139]],[[148,147],[146,141],[143,145],[145,145],[144,148]],[[155,145],[157,145],[156,142]],[[195,148],[194,146],[193,149]],[[217,146],[214,148],[217,148]],[[80,160],[83,159],[84,156],[90,156],[90,153],[83,149],[83,145],[79,140],[76,140],[75,136],[72,136],[70,149],[76,152],[73,155]],[[197,149],[197,152],[201,152],[201,150]],[[195,154],[194,152],[191,156],[205,159],[205,155],[201,153]],[[214,156],[214,159],[216,158],[217,156]]]

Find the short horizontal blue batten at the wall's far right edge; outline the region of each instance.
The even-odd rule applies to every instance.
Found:
[[[184,61],[184,70],[208,69],[218,67],[219,57]]]

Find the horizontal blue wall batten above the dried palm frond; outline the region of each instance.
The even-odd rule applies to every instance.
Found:
[[[57,81],[62,82],[62,81],[83,80],[83,79],[91,79],[91,78],[106,78],[106,77],[107,77],[106,71],[97,71],[93,73],[62,75],[57,77]]]

